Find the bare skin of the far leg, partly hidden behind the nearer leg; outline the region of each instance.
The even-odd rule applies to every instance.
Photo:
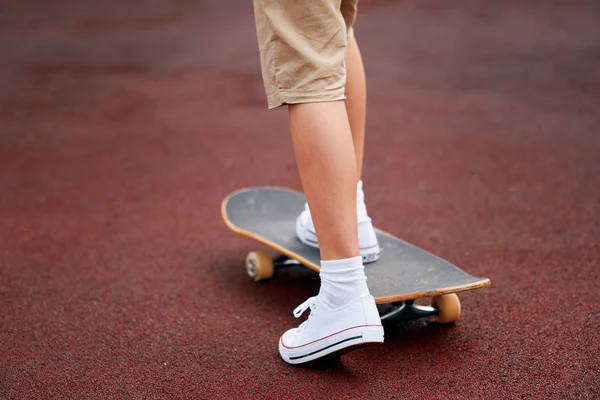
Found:
[[[348,54],[346,55],[346,110],[350,120],[358,179],[360,180],[365,143],[367,84],[360,49],[354,36],[348,41]]]

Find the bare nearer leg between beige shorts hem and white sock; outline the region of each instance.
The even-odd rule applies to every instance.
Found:
[[[356,155],[342,101],[289,106],[300,179],[322,260],[359,256]]]

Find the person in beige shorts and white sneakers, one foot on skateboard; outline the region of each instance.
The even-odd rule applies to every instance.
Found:
[[[321,253],[319,293],[294,310],[310,315],[279,340],[290,364],[383,342],[363,266],[378,259],[379,246],[361,181],[366,83],[352,29],[357,1],[254,0],[268,107],[288,106],[308,202],[296,231]]]

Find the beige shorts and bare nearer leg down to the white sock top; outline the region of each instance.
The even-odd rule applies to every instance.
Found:
[[[254,8],[268,106],[289,106],[322,258],[358,256],[359,177],[342,101],[356,0],[254,0]]]

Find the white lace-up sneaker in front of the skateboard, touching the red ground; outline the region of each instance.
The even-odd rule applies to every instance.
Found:
[[[279,339],[279,354],[289,364],[383,343],[383,326],[373,296],[359,297],[335,311],[324,307],[319,296],[311,297],[294,310],[294,316],[299,318],[308,308],[308,319]]]

